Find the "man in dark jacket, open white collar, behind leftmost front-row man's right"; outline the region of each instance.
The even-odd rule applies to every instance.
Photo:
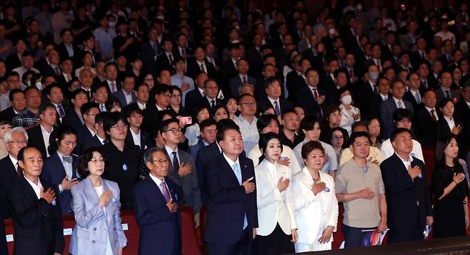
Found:
[[[44,158],[49,157],[49,136],[57,123],[57,110],[51,103],[39,107],[39,125],[28,131],[28,146],[36,147]]]

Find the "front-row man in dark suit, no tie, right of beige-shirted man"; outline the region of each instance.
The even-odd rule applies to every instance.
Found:
[[[424,162],[411,157],[413,141],[406,128],[391,135],[395,153],[381,162],[387,204],[389,243],[423,239],[425,225],[433,224]]]

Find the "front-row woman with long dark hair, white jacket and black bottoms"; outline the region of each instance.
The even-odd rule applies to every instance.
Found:
[[[288,254],[294,252],[297,226],[290,180],[291,170],[279,165],[282,145],[274,132],[259,138],[263,155],[255,167],[258,225],[253,254]]]

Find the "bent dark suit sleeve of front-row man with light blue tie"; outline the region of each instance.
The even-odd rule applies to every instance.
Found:
[[[245,188],[240,185],[237,187],[223,187],[221,184],[220,168],[216,164],[207,164],[204,168],[204,184],[206,194],[216,204],[225,204],[229,202],[239,202],[244,199]]]

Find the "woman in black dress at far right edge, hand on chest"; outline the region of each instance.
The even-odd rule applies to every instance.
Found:
[[[436,166],[432,172],[434,204],[433,238],[465,236],[468,227],[469,185],[459,162],[456,135],[441,137],[436,145]]]

